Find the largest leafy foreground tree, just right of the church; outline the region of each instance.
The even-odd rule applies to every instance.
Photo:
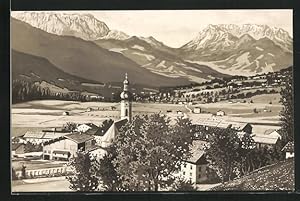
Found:
[[[123,191],[158,191],[173,181],[181,161],[190,156],[193,129],[188,119],[175,124],[165,115],[136,116],[116,139],[113,166]]]

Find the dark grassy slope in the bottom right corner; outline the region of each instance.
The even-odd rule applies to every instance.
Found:
[[[210,189],[211,191],[294,191],[294,158],[266,166],[240,179]]]

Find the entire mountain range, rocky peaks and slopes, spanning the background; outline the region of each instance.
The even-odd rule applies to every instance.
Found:
[[[209,25],[182,47],[170,48],[152,36],[110,30],[90,14],[12,12],[12,17],[13,50],[101,83],[120,82],[127,72],[136,84],[175,86],[273,72],[293,63],[288,32],[267,25]]]

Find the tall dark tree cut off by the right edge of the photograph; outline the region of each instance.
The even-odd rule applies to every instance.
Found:
[[[294,102],[292,76],[285,80],[285,86],[280,91],[280,103],[283,108],[280,112],[281,134],[284,143],[294,140]]]

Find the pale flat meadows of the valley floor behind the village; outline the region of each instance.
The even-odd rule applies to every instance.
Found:
[[[190,110],[201,107],[206,113],[216,113],[223,110],[223,118],[238,122],[249,122],[254,131],[263,132],[266,129],[277,129],[279,112],[282,108],[279,95],[258,95],[251,98],[253,103],[228,101],[198,104],[178,105],[165,103],[133,103],[133,115],[162,112],[168,116],[177,116],[180,110],[191,119],[197,119],[206,114],[194,114]],[[272,104],[269,104],[272,101]],[[87,110],[91,108],[91,110]],[[258,113],[254,113],[256,109]],[[69,115],[63,115],[64,112]],[[12,136],[20,136],[27,130],[42,130],[45,128],[61,127],[66,122],[87,123],[100,125],[105,119],[119,119],[120,104],[104,102],[76,102],[58,100],[40,100],[12,105]]]

